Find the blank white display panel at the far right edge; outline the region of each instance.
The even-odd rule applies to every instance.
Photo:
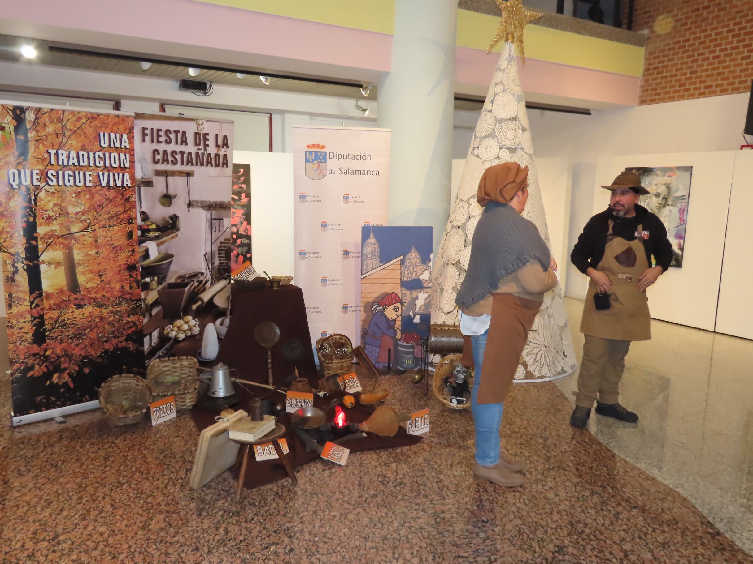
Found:
[[[750,212],[753,209],[753,150],[735,153],[724,265],[716,315],[716,330],[753,339],[753,302],[746,295],[753,280],[750,245]]]

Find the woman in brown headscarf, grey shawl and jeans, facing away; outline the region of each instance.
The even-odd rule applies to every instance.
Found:
[[[536,226],[520,215],[528,200],[528,167],[517,162],[490,166],[479,182],[477,199],[483,213],[456,298],[460,329],[472,349],[471,362],[471,351],[464,347],[463,363],[475,366],[474,475],[514,487],[525,481],[516,472],[526,465],[499,450],[503,402],[544,293],[556,286],[559,276]]]

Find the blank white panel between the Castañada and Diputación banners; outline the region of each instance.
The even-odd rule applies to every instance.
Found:
[[[251,165],[251,259],[261,274],[293,275],[293,154],[233,151]],[[293,281],[295,284],[295,280]]]

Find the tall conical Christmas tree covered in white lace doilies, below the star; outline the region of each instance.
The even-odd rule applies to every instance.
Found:
[[[505,43],[486,94],[465,161],[458,195],[434,260],[434,296],[431,323],[459,323],[455,297],[465,278],[471,256],[471,239],[481,215],[476,190],[483,171],[501,162],[517,161],[528,166],[529,199],[523,217],[531,220],[551,248],[544,203],[533,159],[526,102],[520,89],[517,59],[510,42]],[[559,265],[565,268],[566,265]],[[571,374],[577,364],[559,285],[544,296],[544,304],[529,332],[515,381],[552,380]]]

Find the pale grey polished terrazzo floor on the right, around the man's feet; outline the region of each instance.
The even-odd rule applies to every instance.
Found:
[[[566,307],[580,361],[583,302]],[[589,429],[753,553],[753,341],[659,321],[651,330],[633,343],[620,387],[638,424],[592,415]],[[577,384],[577,374],[556,381],[573,405]]]

